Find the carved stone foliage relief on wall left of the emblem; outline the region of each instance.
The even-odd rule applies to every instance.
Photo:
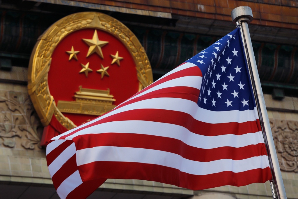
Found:
[[[27,93],[0,93],[0,145],[25,149],[40,147],[42,125]],[[19,140],[17,140],[19,139]]]

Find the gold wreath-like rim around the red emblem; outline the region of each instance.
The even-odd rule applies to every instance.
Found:
[[[59,42],[68,34],[83,28],[106,31],[117,37],[126,46],[136,63],[139,91],[153,82],[148,56],[128,27],[103,13],[82,12],[66,16],[55,22],[38,38],[29,62],[28,92],[44,126],[50,123],[53,114],[67,129],[76,126],[57,108],[54,98],[49,92],[48,72],[52,54]]]

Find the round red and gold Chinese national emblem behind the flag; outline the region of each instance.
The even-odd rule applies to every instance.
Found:
[[[75,13],[40,36],[28,91],[45,126],[42,144],[92,120],[153,82],[136,36],[103,13]]]

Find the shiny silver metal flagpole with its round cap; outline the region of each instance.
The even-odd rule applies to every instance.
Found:
[[[232,20],[235,24],[240,25],[240,30],[243,38],[243,46],[246,54],[246,59],[249,66],[249,73],[251,75],[252,84],[254,88],[254,95],[256,98],[257,108],[260,116],[260,122],[263,129],[263,136],[266,143],[268,152],[269,163],[271,167],[271,173],[275,190],[279,199],[286,199],[285,186],[283,184],[283,178],[280,172],[280,166],[277,160],[277,154],[275,151],[274,141],[271,133],[271,127],[266,110],[265,100],[261,87],[260,77],[257,71],[257,63],[254,58],[254,51],[252,48],[252,41],[250,39],[248,24],[252,21],[252,9],[248,6],[236,7],[231,12]],[[271,189],[274,187],[271,187]],[[274,189],[272,189],[272,196],[274,198]]]

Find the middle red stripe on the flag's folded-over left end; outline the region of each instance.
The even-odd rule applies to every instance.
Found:
[[[74,154],[61,168],[53,175],[52,181],[57,190],[60,184],[68,178],[71,174],[77,171],[77,155]]]

